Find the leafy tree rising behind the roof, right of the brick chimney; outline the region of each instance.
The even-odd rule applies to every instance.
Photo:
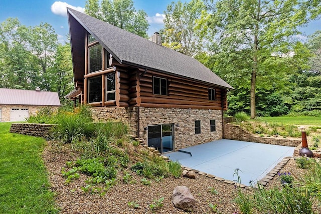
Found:
[[[206,25],[209,18],[202,0],[173,2],[165,11],[164,46],[191,57],[201,53],[206,41],[210,41],[210,29]]]

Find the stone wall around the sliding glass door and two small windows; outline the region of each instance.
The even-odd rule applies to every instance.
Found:
[[[216,120],[216,131],[210,131],[210,120]],[[195,134],[195,120],[201,121],[201,133]],[[159,124],[174,125],[174,148],[181,148],[222,139],[222,112],[219,110],[142,108],[140,107],[140,137],[147,142],[144,127]]]

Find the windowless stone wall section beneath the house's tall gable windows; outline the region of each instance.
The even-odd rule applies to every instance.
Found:
[[[91,108],[92,118],[95,122],[117,121],[128,126],[129,134],[137,134],[137,108],[136,107],[98,107]]]

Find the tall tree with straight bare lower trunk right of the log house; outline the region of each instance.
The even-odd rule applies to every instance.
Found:
[[[318,17],[320,5],[295,0],[210,1],[212,28],[218,32],[210,49],[212,60],[218,61],[216,71],[223,76],[249,82],[251,118],[256,116],[257,79],[290,71],[287,65],[299,66],[292,57],[300,45],[295,36],[300,35],[299,27]]]

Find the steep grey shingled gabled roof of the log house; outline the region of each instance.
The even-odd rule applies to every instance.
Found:
[[[223,88],[233,89],[228,83],[196,59],[181,54],[96,18],[68,8],[69,30],[75,79],[84,66],[75,64],[84,56],[85,30],[121,64],[147,68],[189,79],[199,80]],[[81,50],[83,49],[83,50]]]

